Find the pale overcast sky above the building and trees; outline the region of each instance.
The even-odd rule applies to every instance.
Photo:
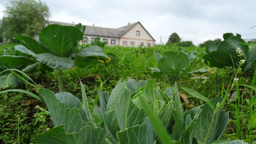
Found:
[[[50,20],[118,28],[140,21],[156,40],[176,32],[194,44],[222,38],[226,32],[256,38],[256,0],[42,0]],[[0,1],[0,17],[4,14]]]

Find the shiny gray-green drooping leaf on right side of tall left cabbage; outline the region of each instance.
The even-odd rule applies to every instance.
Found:
[[[101,53],[101,51],[102,49],[99,46],[90,46],[78,51],[76,54],[74,54],[74,57],[77,58],[90,56],[93,58],[108,60],[108,57]]]

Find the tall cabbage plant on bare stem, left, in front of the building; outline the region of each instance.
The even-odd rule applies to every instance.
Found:
[[[49,25],[41,30],[39,41],[25,35],[18,35],[15,39],[21,45],[15,49],[22,55],[1,55],[0,62],[7,67],[25,65],[23,72],[31,73],[35,70],[56,69],[59,79],[59,91],[63,91],[62,70],[86,65],[94,59],[108,61],[107,55],[102,53],[104,43],[79,49],[79,41],[83,39],[85,26]]]

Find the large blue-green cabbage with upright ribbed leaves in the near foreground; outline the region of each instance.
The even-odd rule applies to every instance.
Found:
[[[68,92],[54,94],[48,89],[39,89],[55,127],[36,134],[32,142],[245,144],[239,140],[220,140],[229,116],[219,107],[221,97],[206,100],[206,104],[184,112],[176,83],[161,91],[153,79],[119,80],[111,93],[98,89],[100,107],[96,105],[91,113],[84,85],[80,84],[83,103]],[[163,131],[159,131],[160,128],[164,128]]]

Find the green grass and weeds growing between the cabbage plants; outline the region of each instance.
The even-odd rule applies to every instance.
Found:
[[[15,44],[0,45],[0,55],[8,54],[7,52],[15,53],[12,49],[13,46],[15,46]],[[152,79],[152,76],[143,72],[150,72],[149,67],[158,67],[154,51],[163,55],[164,52],[179,51],[180,49],[181,47],[175,45],[156,45],[154,47],[145,48],[105,46],[104,52],[115,53],[118,57],[118,62],[108,65],[106,67],[107,70],[101,64],[89,70],[79,67],[76,67],[74,70],[63,70],[63,89],[64,91],[71,92],[82,100],[81,86],[75,85],[75,83],[85,77],[82,82],[85,86],[88,101],[91,103],[91,105],[89,105],[91,108],[93,103],[92,99],[97,95],[95,88],[99,88],[101,81],[96,76],[88,76],[88,74],[97,75],[103,82],[106,81],[102,87],[103,91],[111,91],[120,78],[123,80]],[[203,75],[181,74],[177,80],[177,85],[179,85],[179,87],[191,88],[210,99],[215,96],[223,97],[232,85],[230,79],[233,78],[233,72],[209,68],[203,62],[202,57],[205,55],[204,48],[184,48],[184,52],[192,52],[194,50],[197,50],[196,55],[198,58],[186,68],[186,71],[198,70],[202,67],[208,68],[209,71]],[[37,72],[29,74],[29,76],[36,84],[40,85],[40,87],[47,88],[55,93],[59,92],[57,82],[58,74],[56,70],[46,74]],[[197,77],[197,79],[193,79],[195,77]],[[239,75],[238,77],[240,79],[239,83],[254,86],[251,84],[253,78],[242,78]],[[168,79],[165,77],[155,79],[156,82],[168,83]],[[23,83],[21,89],[26,89],[37,94],[35,88],[25,83]],[[184,109],[191,109],[204,104],[202,100],[187,95],[182,89],[179,91],[181,91],[180,95],[185,95],[181,98],[182,103],[185,104],[183,105]],[[248,135],[255,137],[254,129],[251,131],[248,130],[249,118],[255,111],[254,107],[248,109],[254,97],[254,92],[243,86],[236,86],[230,91],[231,94],[227,99],[232,99],[232,101],[226,101],[224,107],[226,110],[230,111],[230,121],[223,139],[244,139],[245,141],[249,141]],[[40,109],[40,107],[43,109]],[[41,115],[43,117],[41,117]],[[35,98],[31,98],[19,92],[0,95],[0,143],[30,143],[30,139],[34,134],[46,131],[47,128],[51,127],[53,127],[53,124],[49,114],[44,110],[44,105],[35,100]]]

